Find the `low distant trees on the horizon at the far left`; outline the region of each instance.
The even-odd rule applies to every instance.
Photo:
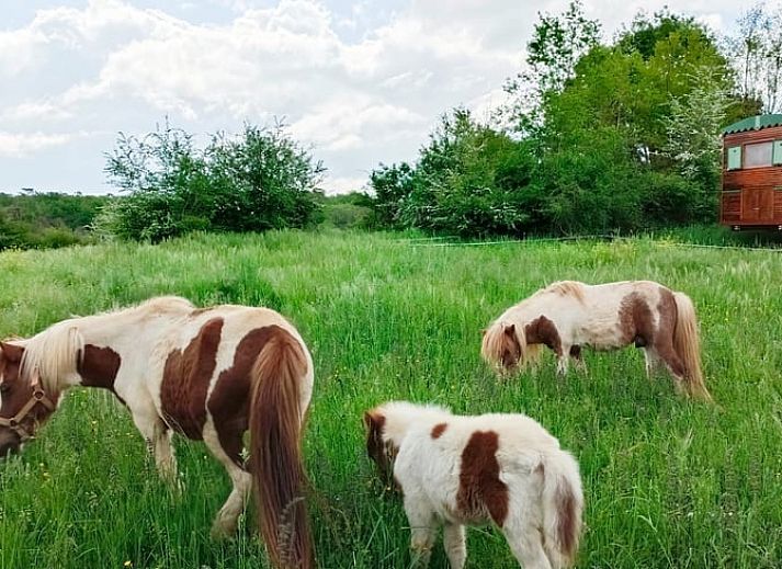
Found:
[[[0,193],[0,249],[56,248],[94,239],[92,224],[110,196]]]

